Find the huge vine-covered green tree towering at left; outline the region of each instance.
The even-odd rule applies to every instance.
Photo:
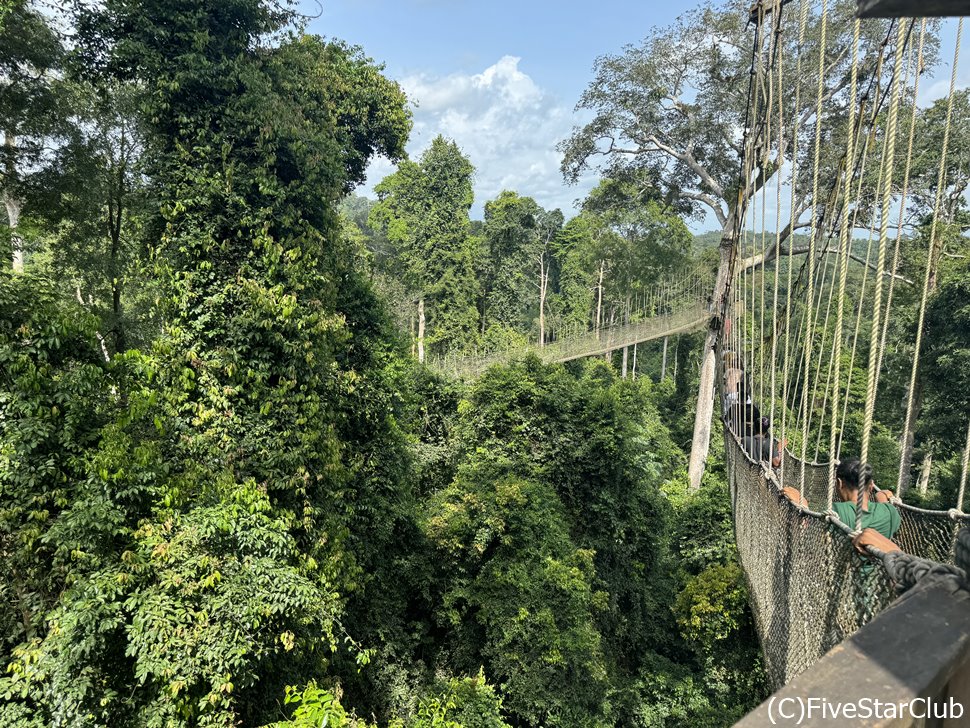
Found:
[[[164,328],[82,397],[108,417],[42,528],[61,588],[15,649],[6,724],[257,724],[355,644],[341,616],[394,542],[407,458],[393,339],[336,203],[373,150],[403,154],[408,116],[359,54],[270,44],[288,17],[112,0],[80,18],[91,67],[147,87]]]

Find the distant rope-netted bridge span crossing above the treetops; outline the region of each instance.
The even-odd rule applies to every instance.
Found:
[[[535,354],[546,363],[608,354],[624,347],[700,328],[710,317],[711,274],[691,271],[639,296],[636,308],[614,317],[612,325],[563,325],[546,332],[545,340],[491,350],[454,352],[432,358],[433,369],[460,378],[476,377],[493,364]]]

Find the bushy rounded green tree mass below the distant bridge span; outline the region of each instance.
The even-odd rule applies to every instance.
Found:
[[[438,619],[454,669],[484,657],[530,724],[612,724],[607,691],[673,649],[658,486],[678,453],[650,392],[602,361],[576,377],[532,359],[459,406],[458,475],[425,520]]]

